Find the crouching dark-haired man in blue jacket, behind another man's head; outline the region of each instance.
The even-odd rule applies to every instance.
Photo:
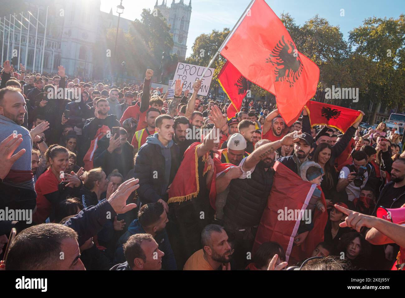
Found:
[[[159,245],[159,250],[164,253],[162,257],[163,270],[177,270],[175,256],[165,229],[168,221],[167,213],[162,203],[156,202],[143,205],[138,212],[138,218],[130,223],[128,231],[118,240],[114,264],[125,262],[123,246],[130,236],[146,233],[152,235]]]

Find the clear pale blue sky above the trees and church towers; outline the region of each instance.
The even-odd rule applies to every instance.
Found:
[[[171,4],[173,0],[167,0]],[[159,4],[162,0],[158,0]],[[179,0],[175,0],[179,2]],[[188,4],[189,0],[184,0]],[[240,15],[245,10],[249,0],[192,0],[192,13],[189,34],[187,39],[187,56],[190,56],[191,47],[194,40],[201,33],[209,33],[213,29],[222,30],[224,27],[232,28]],[[363,20],[376,17],[398,18],[401,13],[405,13],[404,0],[266,0],[267,4],[279,16],[281,13],[290,13],[296,24],[302,25],[318,14],[320,17],[328,19],[332,25],[338,25],[345,39],[348,32],[362,24]],[[134,20],[139,19],[142,9],[153,9],[156,0],[123,0],[125,7],[122,17]],[[119,0],[101,0],[101,10],[109,12],[113,6],[113,13],[117,15],[116,6]],[[345,10],[345,16],[340,16],[340,10]]]

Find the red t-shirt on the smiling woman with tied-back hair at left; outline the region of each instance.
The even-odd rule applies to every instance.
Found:
[[[36,180],[36,212],[32,215],[35,223],[45,223],[51,214],[52,205],[44,195],[58,191],[58,184],[58,178],[55,177],[50,168]]]

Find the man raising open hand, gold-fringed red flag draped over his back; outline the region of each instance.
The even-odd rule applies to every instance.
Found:
[[[169,237],[178,268],[183,268],[188,257],[200,249],[199,235],[214,217],[213,154],[218,150],[220,130],[226,124],[226,116],[215,105],[209,118],[214,124],[204,125],[201,143],[196,142],[185,151],[169,190]]]

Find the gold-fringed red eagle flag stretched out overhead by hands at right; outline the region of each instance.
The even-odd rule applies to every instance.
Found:
[[[308,101],[305,108],[308,111],[311,127],[328,125],[345,132],[361,117],[361,113],[354,109],[317,101]]]

